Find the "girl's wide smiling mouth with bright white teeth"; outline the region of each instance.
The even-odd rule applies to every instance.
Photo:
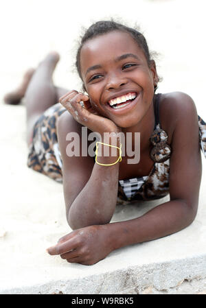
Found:
[[[126,95],[122,95],[121,97],[111,99],[106,104],[106,108],[109,109],[110,112],[115,112],[115,114],[122,114],[130,110],[130,108],[133,108],[133,106],[137,104],[138,99],[139,93],[130,92]]]

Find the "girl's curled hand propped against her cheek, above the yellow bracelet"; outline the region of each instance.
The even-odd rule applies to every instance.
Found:
[[[98,115],[98,112],[91,106],[88,95],[73,90],[60,97],[59,102],[78,123],[87,126],[93,132],[103,135],[104,132],[121,131],[113,121]],[[83,102],[84,107],[80,105],[80,102]]]

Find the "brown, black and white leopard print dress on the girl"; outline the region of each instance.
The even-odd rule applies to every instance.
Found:
[[[159,97],[155,95],[155,128],[150,137],[152,150],[150,156],[154,165],[148,176],[119,180],[117,204],[128,204],[137,200],[155,200],[169,193],[170,155],[168,135],[159,122]],[[45,110],[34,125],[27,166],[62,182],[62,158],[58,146],[56,121],[66,109],[60,104]],[[199,144],[206,158],[206,123],[198,116]]]

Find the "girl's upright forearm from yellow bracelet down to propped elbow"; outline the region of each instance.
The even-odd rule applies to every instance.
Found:
[[[98,157],[98,161],[110,164],[117,161],[118,157],[119,153],[118,156],[111,156],[110,152],[108,156]],[[111,166],[95,163],[87,185],[69,209],[67,220],[71,228],[110,222],[117,202],[118,178],[119,162]]]

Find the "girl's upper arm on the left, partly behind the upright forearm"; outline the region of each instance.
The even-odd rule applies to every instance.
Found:
[[[75,143],[74,146],[80,146],[80,156],[68,156],[67,145],[69,145],[71,141],[67,141],[67,134],[73,132],[76,133],[76,139],[72,139],[72,143]],[[80,191],[82,191],[87,184],[91,176],[94,162],[91,156],[81,156],[82,126],[76,122],[67,111],[62,113],[58,119],[57,135],[62,156],[62,180],[66,212],[68,214],[69,207],[73,203],[73,200],[76,199]]]

